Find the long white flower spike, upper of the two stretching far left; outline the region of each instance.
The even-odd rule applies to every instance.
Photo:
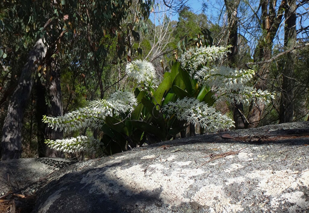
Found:
[[[91,101],[87,107],[58,117],[43,117],[43,122],[49,127],[60,131],[72,132],[85,127],[100,128],[106,116],[131,112],[137,105],[137,100],[130,92],[115,92],[108,100]]]

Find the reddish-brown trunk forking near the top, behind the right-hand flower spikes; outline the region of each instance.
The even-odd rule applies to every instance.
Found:
[[[255,53],[255,61],[267,61],[272,56],[273,39],[275,38],[278,28],[283,17],[283,8],[285,1],[282,0],[277,11],[277,0],[260,0],[261,6],[261,28],[263,35],[261,36]],[[269,75],[270,64],[264,63],[257,71],[256,89],[265,90],[267,78]],[[249,127],[257,127],[265,110],[263,101],[256,101],[251,105],[248,121]]]

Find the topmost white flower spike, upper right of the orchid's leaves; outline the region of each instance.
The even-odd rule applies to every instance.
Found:
[[[226,47],[195,47],[184,52],[180,57],[181,66],[194,73],[198,66],[204,66],[208,62],[222,61],[231,46]]]

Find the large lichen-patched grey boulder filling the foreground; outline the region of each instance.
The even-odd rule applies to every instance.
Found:
[[[309,122],[167,141],[55,172],[32,212],[309,212]]]

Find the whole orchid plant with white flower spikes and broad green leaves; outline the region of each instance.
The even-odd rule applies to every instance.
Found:
[[[248,86],[255,72],[222,66],[229,46],[204,46],[184,52],[171,72],[158,82],[154,66],[147,61],[128,63],[126,75],[135,83],[132,91],[114,92],[107,100],[91,101],[87,107],[43,121],[65,132],[91,127],[103,132],[93,137],[47,140],[45,143],[63,152],[113,154],[128,147],[168,140],[191,123],[208,132],[234,126],[230,117],[213,105],[219,100],[250,104],[262,100],[269,104],[274,94]],[[115,148],[115,144],[117,145]]]

